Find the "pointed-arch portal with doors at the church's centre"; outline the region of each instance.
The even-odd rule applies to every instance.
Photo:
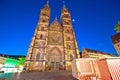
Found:
[[[54,47],[49,52],[49,61],[51,70],[59,70],[62,54],[59,48]]]

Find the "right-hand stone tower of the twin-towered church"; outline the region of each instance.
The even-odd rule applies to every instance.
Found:
[[[72,27],[71,15],[65,5],[63,5],[61,12],[61,25],[63,28],[66,69],[71,70],[71,61],[75,58],[79,58],[80,54]]]

